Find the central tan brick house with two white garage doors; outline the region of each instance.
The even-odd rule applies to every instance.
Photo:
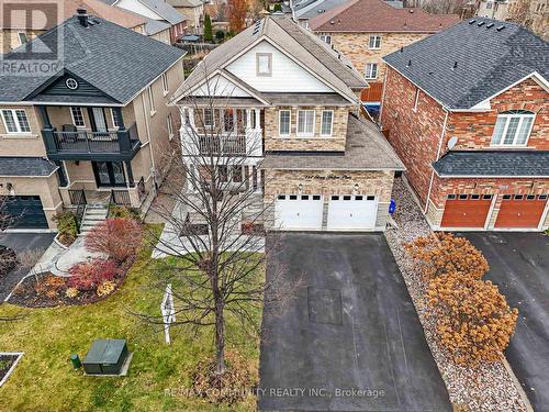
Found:
[[[383,230],[393,177],[404,167],[359,114],[365,86],[326,43],[279,14],[210,52],[173,102],[184,118],[183,146],[200,135],[199,118],[242,130],[231,154],[247,158],[227,179],[249,179],[269,208],[268,229]],[[219,108],[211,99],[201,107],[204,97]]]

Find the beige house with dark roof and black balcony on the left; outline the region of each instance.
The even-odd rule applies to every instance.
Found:
[[[55,229],[57,212],[86,202],[150,200],[178,127],[166,103],[183,55],[79,10],[2,56],[0,192],[22,214],[15,226]]]

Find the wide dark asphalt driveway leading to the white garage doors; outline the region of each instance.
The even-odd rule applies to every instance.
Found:
[[[449,411],[404,280],[382,234],[285,234],[282,311],[267,305],[259,408]],[[270,241],[270,240],[269,240]],[[269,263],[267,277],[272,278]]]

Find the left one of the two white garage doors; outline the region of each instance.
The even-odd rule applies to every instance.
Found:
[[[322,229],[320,194],[279,194],[274,203],[277,229]]]

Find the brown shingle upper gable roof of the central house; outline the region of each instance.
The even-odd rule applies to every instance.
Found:
[[[358,71],[346,66],[326,43],[288,16],[270,15],[210,52],[176,91],[176,99],[187,94],[211,74],[223,69],[235,57],[261,41],[268,41],[282,49],[348,100],[357,99],[352,89],[367,86]]]

